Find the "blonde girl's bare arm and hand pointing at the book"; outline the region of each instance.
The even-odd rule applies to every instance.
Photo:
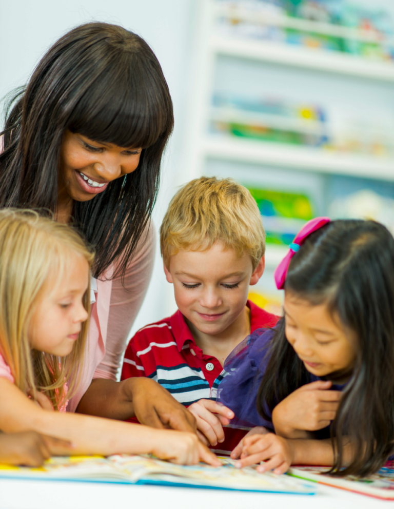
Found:
[[[0,429],[6,433],[33,430],[68,440],[73,444],[72,454],[152,453],[174,463],[195,464],[202,460],[220,465],[196,435],[44,410],[5,378],[0,378]]]

